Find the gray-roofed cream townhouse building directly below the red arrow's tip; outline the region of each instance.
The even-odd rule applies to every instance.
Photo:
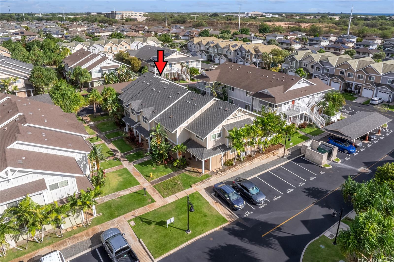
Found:
[[[125,111],[125,130],[134,132],[149,147],[149,131],[160,123],[168,134],[165,140],[171,146],[186,145],[186,159],[191,166],[201,168],[201,173],[234,157],[235,150],[226,138],[228,131],[253,124],[257,116],[151,73],[126,84],[122,92],[119,99]]]

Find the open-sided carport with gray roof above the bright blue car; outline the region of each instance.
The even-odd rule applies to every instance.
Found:
[[[368,141],[369,133],[374,129],[378,128],[378,134],[380,135],[382,125],[390,121],[390,118],[377,112],[361,111],[331,125],[322,127],[322,130],[336,137],[353,141],[354,146],[355,140],[365,134],[365,140]]]

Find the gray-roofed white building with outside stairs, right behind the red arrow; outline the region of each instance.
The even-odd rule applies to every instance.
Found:
[[[164,50],[164,61],[167,61],[167,65],[162,72],[162,76],[178,77],[184,80],[189,80],[190,77],[186,73],[186,65],[197,68],[199,71],[201,70],[201,61],[203,60],[201,57],[181,53],[177,50],[171,50],[168,48],[143,46],[138,50],[129,50],[128,54],[141,60],[141,66],[146,65],[148,67],[148,72],[159,75],[159,72],[154,65],[154,61],[158,61],[158,50]],[[184,65],[183,68],[181,63]]]

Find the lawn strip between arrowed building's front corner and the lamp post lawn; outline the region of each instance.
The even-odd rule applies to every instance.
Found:
[[[188,189],[192,184],[200,182],[201,180],[204,180],[208,177],[208,174],[198,177],[197,173],[186,172],[158,183],[153,187],[156,188],[160,195],[167,197]]]

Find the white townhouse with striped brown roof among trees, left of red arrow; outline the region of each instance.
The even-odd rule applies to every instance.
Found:
[[[74,52],[74,54],[67,56],[63,59],[63,64],[65,68],[61,72],[64,77],[67,77],[67,72],[72,72],[77,66],[86,68],[92,76],[92,80],[88,83],[89,87],[101,85],[101,79],[104,73],[109,73],[119,68],[119,66],[125,65],[119,61],[85,49],[80,49]]]

